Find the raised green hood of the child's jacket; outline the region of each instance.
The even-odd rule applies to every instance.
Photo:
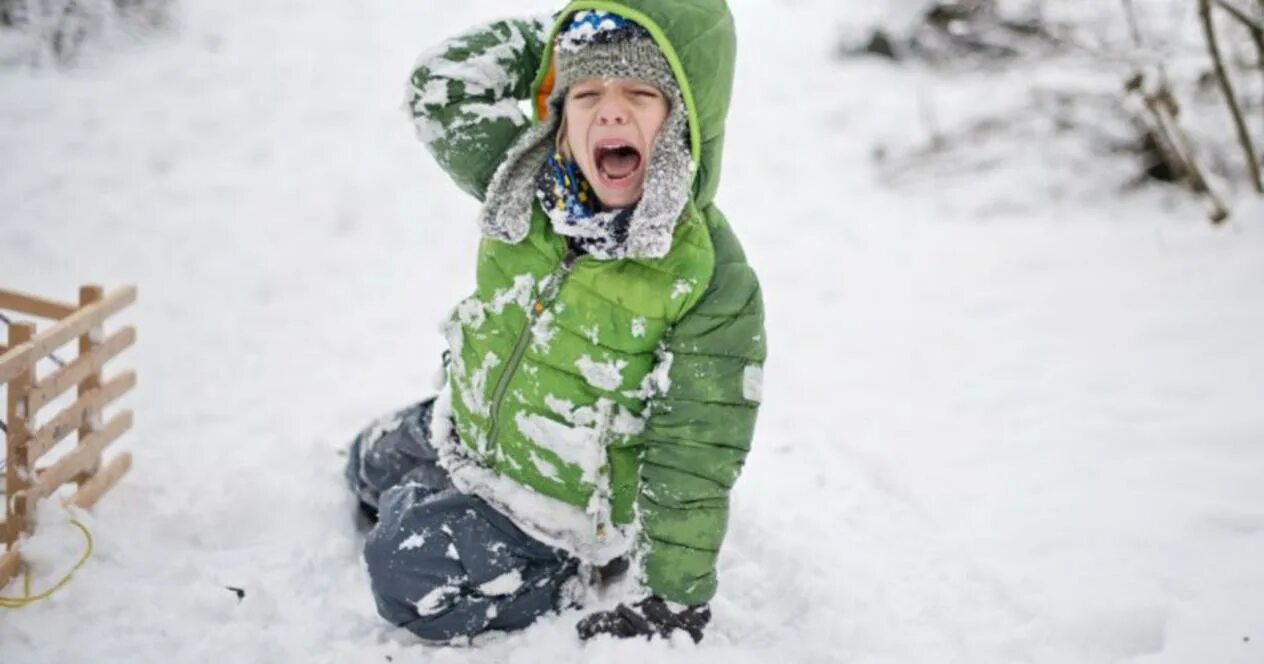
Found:
[[[693,158],[693,202],[705,207],[719,188],[724,152],[724,119],[733,94],[737,33],[727,0],[576,0],[557,15],[532,86],[536,119],[549,114],[555,38],[584,9],[613,11],[653,35],[676,76],[689,119]]]

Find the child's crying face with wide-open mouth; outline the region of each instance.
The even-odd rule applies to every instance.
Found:
[[[650,148],[667,119],[652,83],[585,78],[566,92],[565,147],[607,207],[629,207],[645,192]]]

